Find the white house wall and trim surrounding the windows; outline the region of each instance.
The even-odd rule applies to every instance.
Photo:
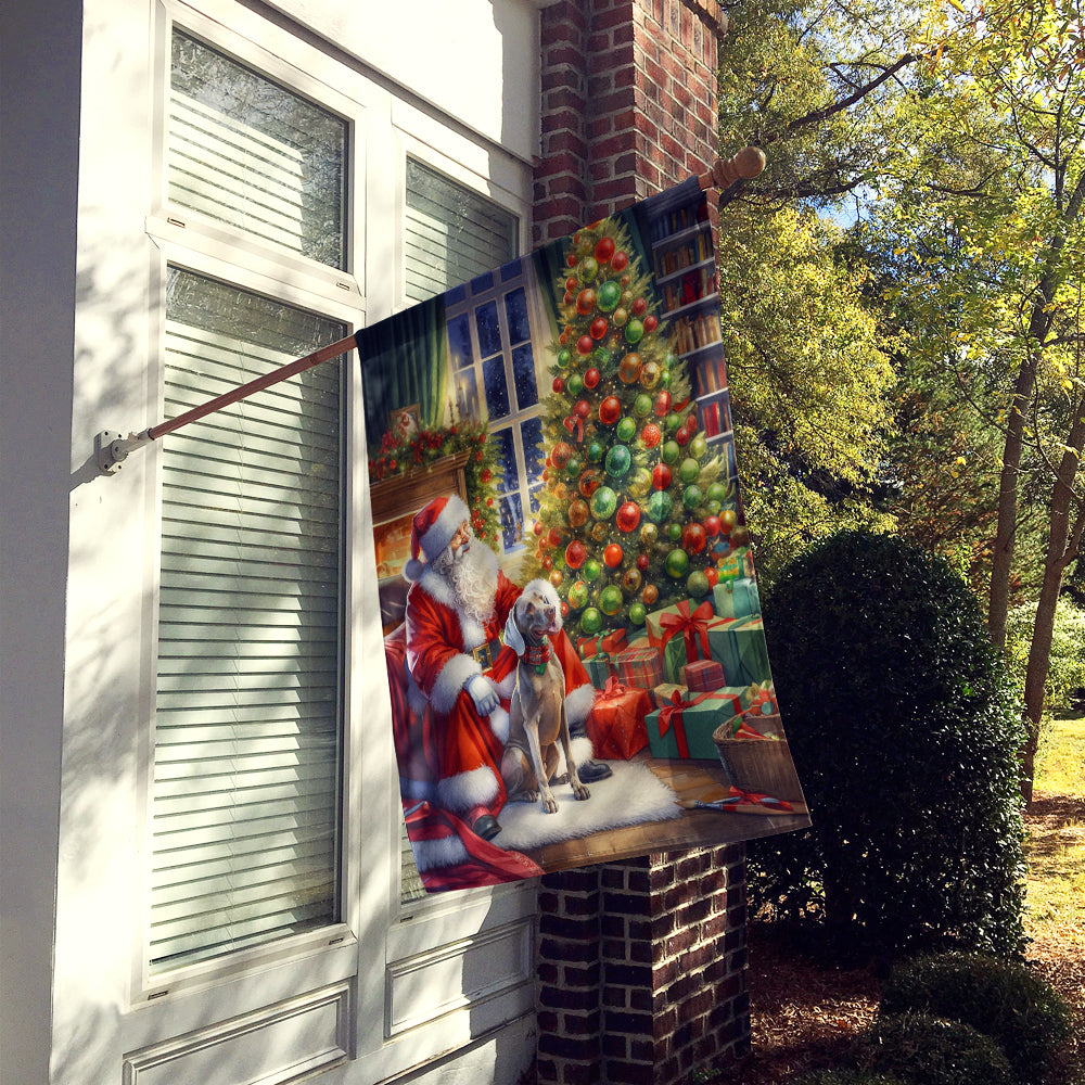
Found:
[[[369,527],[361,473],[344,922],[176,984],[140,963],[157,457],[137,450],[103,477],[93,439],[159,419],[162,270],[189,243],[155,195],[165,21],[221,31],[256,64],[277,56],[349,105],[362,156],[352,241],[365,258],[336,303],[321,301],[319,273],[289,272],[298,304],[354,326],[403,304],[391,271],[408,152],[516,210],[527,235],[538,127],[527,0],[276,7],[86,0],[80,15],[69,0],[38,0],[2,11],[5,1083],[241,1085],[321,1068],[344,1085],[405,1072],[512,1082],[534,1050],[528,892],[399,911],[375,577],[357,561]],[[253,290],[283,273],[258,253],[243,265]]]

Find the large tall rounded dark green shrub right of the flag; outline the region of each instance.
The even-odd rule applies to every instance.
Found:
[[[963,580],[844,532],[783,571],[765,629],[814,825],[750,845],[754,906],[868,952],[1019,952],[1022,727]]]

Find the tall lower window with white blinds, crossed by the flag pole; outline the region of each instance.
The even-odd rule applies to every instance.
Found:
[[[169,270],[165,414],[343,336]],[[341,360],[163,442],[152,971],[339,918]]]

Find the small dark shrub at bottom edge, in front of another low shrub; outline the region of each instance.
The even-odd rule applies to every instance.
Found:
[[[908,1085],[1012,1085],[1006,1054],[971,1025],[927,1013],[879,1018],[860,1042],[860,1065]]]

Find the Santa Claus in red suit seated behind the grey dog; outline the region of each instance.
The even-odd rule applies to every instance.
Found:
[[[407,592],[407,668],[429,700],[435,745],[436,802],[484,840],[500,832],[506,801],[501,756],[509,735],[508,703],[515,684],[515,652],[500,634],[520,596],[498,567],[497,554],[471,532],[467,505],[456,495],[431,501],[411,524]],[[565,705],[574,758],[587,778],[609,775],[588,765],[585,724],[595,699],[584,664],[564,633],[553,638],[565,673]],[[585,769],[580,769],[585,778]]]

